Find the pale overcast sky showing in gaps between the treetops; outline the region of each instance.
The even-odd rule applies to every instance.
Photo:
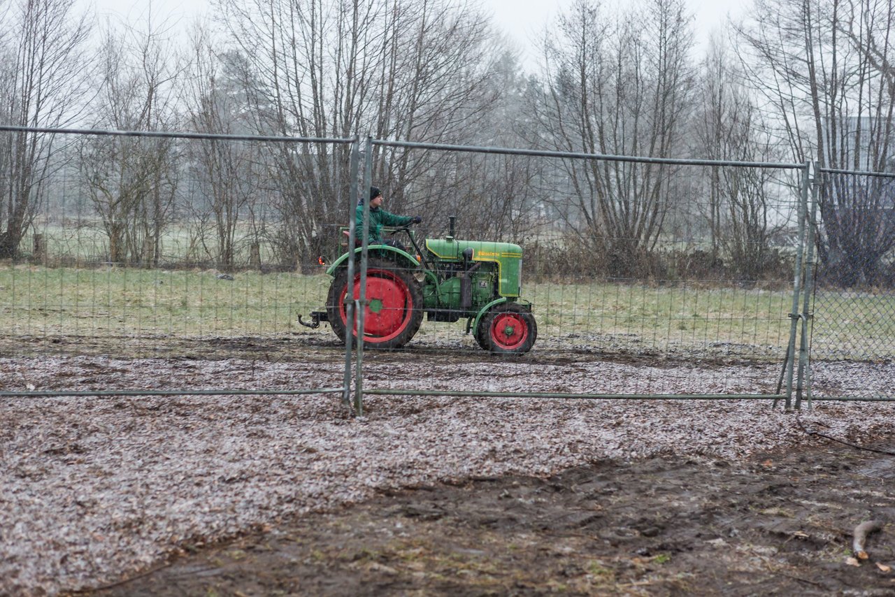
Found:
[[[90,0],[84,0],[89,2]],[[146,10],[150,0],[93,0],[100,12],[131,13],[138,15]],[[475,0],[472,0],[473,2]],[[521,50],[531,45],[530,40],[552,21],[572,0],[478,0],[479,5],[490,11],[498,25],[511,38],[516,39]],[[611,2],[611,0],[610,0]],[[712,29],[719,28],[728,13],[738,16],[751,0],[687,0],[695,13],[697,47],[703,47]],[[152,0],[161,15],[170,15],[176,21],[209,9],[209,0]],[[531,64],[532,55],[523,56],[525,64]]]

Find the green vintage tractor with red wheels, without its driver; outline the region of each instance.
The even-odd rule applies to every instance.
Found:
[[[466,333],[473,332],[478,344],[491,353],[527,353],[538,337],[538,326],[532,303],[520,298],[522,247],[457,240],[453,217],[449,228],[446,238],[428,239],[422,246],[409,226],[387,228],[388,234],[406,235],[413,249],[369,247],[364,347],[393,349],[407,344],[425,314],[430,321],[466,318]],[[321,321],[328,321],[336,336],[345,340],[345,301],[349,292],[359,298],[361,288],[361,249],[354,253],[354,279],[348,280],[345,252],[327,269],[333,280],[326,311],[311,312],[311,323],[299,317],[303,326],[318,328]],[[355,341],[357,336],[355,329]]]

